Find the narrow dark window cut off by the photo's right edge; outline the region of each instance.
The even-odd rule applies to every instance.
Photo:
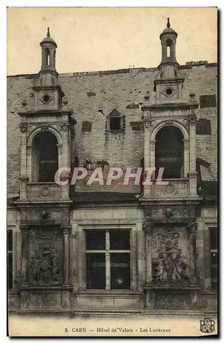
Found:
[[[211,287],[217,289],[218,285],[218,240],[217,228],[210,228],[210,273]]]

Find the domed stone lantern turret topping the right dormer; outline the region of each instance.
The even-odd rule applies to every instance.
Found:
[[[177,32],[171,28],[169,18],[166,28],[160,34],[162,60],[158,66],[158,74],[154,80],[155,101],[157,104],[181,102],[184,76],[179,71],[175,46]]]

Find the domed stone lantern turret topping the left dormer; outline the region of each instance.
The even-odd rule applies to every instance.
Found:
[[[51,38],[49,27],[47,37],[40,43],[42,49],[42,65],[38,80],[34,84],[35,110],[59,110],[62,108],[64,93],[58,82],[58,72],[55,69],[57,44]]]

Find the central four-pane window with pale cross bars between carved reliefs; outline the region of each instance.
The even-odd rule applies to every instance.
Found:
[[[86,288],[130,289],[130,230],[86,230]]]

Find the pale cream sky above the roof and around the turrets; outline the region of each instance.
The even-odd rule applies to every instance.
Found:
[[[48,26],[58,73],[157,67],[167,17],[179,64],[216,62],[216,8],[8,8],[7,73],[38,73]]]

